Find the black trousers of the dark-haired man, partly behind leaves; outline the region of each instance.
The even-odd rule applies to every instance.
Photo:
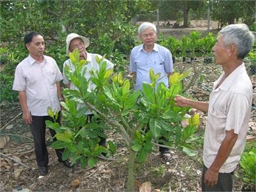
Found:
[[[60,124],[60,115],[59,112],[57,122]],[[32,116],[32,124],[30,124],[30,129],[33,135],[34,143],[35,143],[35,154],[36,154],[36,163],[38,166],[46,167],[49,163],[47,147],[45,143],[45,120],[54,120],[50,116]],[[53,137],[56,132],[52,129],[49,129],[51,132],[51,136]],[[53,139],[56,141],[56,138]],[[58,156],[58,161],[62,161],[61,156],[63,150],[55,150]]]

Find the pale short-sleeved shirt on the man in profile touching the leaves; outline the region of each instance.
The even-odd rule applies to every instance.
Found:
[[[236,169],[246,143],[253,90],[244,63],[216,88],[224,77],[223,72],[214,82],[214,89],[210,95],[203,160],[205,166],[209,168],[225,138],[225,131],[234,129],[234,132],[238,134],[237,141],[228,159],[220,168],[220,173],[230,173]]]

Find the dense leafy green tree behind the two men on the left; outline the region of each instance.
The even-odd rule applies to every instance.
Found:
[[[65,38],[78,33],[90,39],[89,52],[106,54],[116,64],[115,70],[125,70],[127,56],[136,44],[136,28],[132,18],[141,10],[150,10],[148,1],[1,1],[1,44],[5,63],[1,76],[1,95],[17,100],[12,92],[14,70],[26,58],[23,38],[27,31],[42,33],[45,54],[52,56],[62,69],[67,60]],[[3,58],[4,56],[4,58]],[[3,62],[2,62],[3,61]],[[8,93],[8,94],[7,94]],[[10,94],[11,93],[11,94]],[[5,96],[1,96],[5,99]]]

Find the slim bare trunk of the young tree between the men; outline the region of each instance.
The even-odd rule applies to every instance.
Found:
[[[135,191],[134,188],[134,162],[136,158],[136,152],[131,148],[129,150],[129,160],[128,160],[128,182],[127,191]]]

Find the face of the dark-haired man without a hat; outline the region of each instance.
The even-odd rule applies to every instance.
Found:
[[[26,47],[31,56],[43,56],[45,49],[44,38],[41,35],[33,36],[31,42],[26,44]]]

